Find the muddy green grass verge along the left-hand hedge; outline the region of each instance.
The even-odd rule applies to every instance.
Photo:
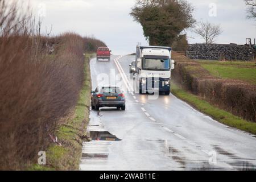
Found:
[[[46,151],[46,166],[34,164],[28,170],[78,170],[81,159],[82,138],[86,135],[90,108],[90,67],[92,53],[85,55],[84,84],[76,105],[75,115],[59,126],[56,136],[61,146],[52,144]]]

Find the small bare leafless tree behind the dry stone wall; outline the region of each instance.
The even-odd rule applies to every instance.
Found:
[[[220,25],[211,24],[209,22],[200,22],[197,24],[194,32],[200,35],[206,44],[212,44],[214,39],[222,33]]]

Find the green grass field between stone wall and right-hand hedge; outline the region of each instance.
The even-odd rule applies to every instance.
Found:
[[[256,84],[256,64],[242,61],[199,61],[211,75]]]

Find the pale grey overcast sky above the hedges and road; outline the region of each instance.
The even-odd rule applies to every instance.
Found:
[[[245,38],[256,38],[256,22],[246,19],[242,0],[188,2],[195,7],[193,15],[197,21],[221,24],[224,32],[216,43],[245,44]],[[52,24],[52,35],[73,31],[82,36],[95,36],[104,41],[115,55],[135,52],[137,42],[148,44],[141,25],[129,15],[134,3],[134,0],[31,0],[34,14],[43,16],[43,31]],[[189,43],[203,43],[189,30],[187,35]]]

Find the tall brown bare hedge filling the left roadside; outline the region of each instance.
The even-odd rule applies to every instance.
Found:
[[[49,134],[72,114],[84,78],[85,45],[73,33],[39,36],[18,5],[6,6],[1,0],[0,169],[22,169],[36,163],[38,151],[52,142]],[[49,44],[57,47],[51,55]]]

